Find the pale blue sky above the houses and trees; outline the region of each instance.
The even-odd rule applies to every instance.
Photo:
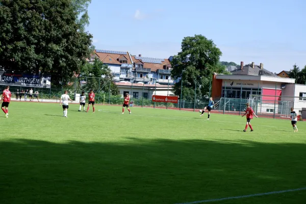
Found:
[[[88,11],[96,49],[168,58],[182,39],[201,34],[221,61],[255,62],[280,72],[306,65],[305,0],[92,0]]]

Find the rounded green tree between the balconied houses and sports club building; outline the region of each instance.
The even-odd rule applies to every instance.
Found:
[[[171,61],[172,78],[179,80],[174,85],[174,94],[180,96],[183,78],[183,99],[194,100],[195,82],[197,99],[207,97],[213,73],[225,71],[225,66],[219,63],[221,55],[213,40],[202,35],[185,37],[182,41],[182,51]]]

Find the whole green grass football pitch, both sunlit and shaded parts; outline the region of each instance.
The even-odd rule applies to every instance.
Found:
[[[306,187],[306,127],[290,120],[59,104],[1,112],[0,203],[183,203]],[[100,110],[100,111],[98,111]],[[210,203],[306,203],[306,191]]]

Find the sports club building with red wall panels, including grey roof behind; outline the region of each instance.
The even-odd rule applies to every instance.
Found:
[[[249,99],[252,95],[263,95],[261,100],[266,101],[267,105],[268,101],[273,104],[271,108],[266,105],[265,109],[261,110],[266,113],[271,113],[274,110],[274,100],[291,101],[290,106],[294,105],[294,108],[299,112],[302,108],[306,108],[306,86],[294,84],[295,79],[279,77],[264,69],[262,63],[260,65],[254,63],[243,65],[241,62],[239,67],[230,66],[227,67],[227,70],[232,74],[214,74],[213,76],[211,95],[215,99],[221,97],[240,98],[240,94],[242,99]],[[278,97],[271,97],[275,95]],[[296,96],[297,98],[286,97],[285,99],[284,96]],[[261,109],[263,108],[261,107]]]

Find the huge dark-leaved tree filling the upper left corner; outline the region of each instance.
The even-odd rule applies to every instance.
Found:
[[[1,0],[0,65],[49,72],[68,82],[89,56],[92,36],[80,32],[71,0]],[[60,81],[53,78],[53,80]]]

